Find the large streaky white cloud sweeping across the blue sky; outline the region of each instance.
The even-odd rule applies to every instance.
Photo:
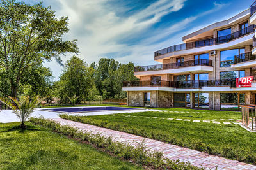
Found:
[[[135,39],[142,34],[152,31],[150,27],[161,20],[165,15],[174,11],[179,11],[184,6],[186,0],[158,0],[150,4],[137,13],[128,16],[118,15],[115,8],[108,5],[108,0],[48,0],[46,5],[52,5],[52,10],[56,10],[56,15],[68,16],[70,32],[65,35],[67,39],[77,39],[79,46],[79,57],[86,62],[98,61],[108,53],[115,53],[116,60],[127,63],[129,61],[136,64],[152,63],[154,51],[166,45],[171,45],[170,39],[157,42],[170,34],[186,28],[186,25],[196,20],[196,18],[212,13],[221,8],[221,4],[215,4],[217,8],[205,11],[198,16],[192,16],[173,24],[170,27],[155,29],[150,32],[150,37],[142,39],[138,43],[130,45],[124,42],[126,39]],[[121,7],[125,10],[125,7]],[[173,43],[181,41],[184,33],[175,34],[172,38]],[[63,58],[63,61],[68,57]],[[51,67],[54,75],[58,78],[61,67],[55,62],[45,64]]]

